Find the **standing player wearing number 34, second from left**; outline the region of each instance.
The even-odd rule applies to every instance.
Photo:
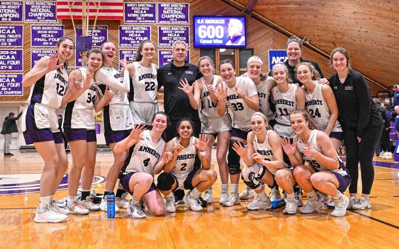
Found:
[[[87,52],[86,67],[81,67],[71,72],[67,91],[71,87],[71,79],[84,81],[90,74],[95,74],[102,65],[102,52],[94,48]],[[94,110],[100,112],[112,99],[112,93],[105,90],[103,98],[98,93],[98,88],[93,85],[84,92],[80,91],[75,101],[69,101],[64,113],[64,134],[72,153],[72,167],[68,176],[69,199],[67,210],[70,214],[86,215],[89,211],[99,211],[100,207],[90,200],[90,187],[96,165],[97,138],[94,126]],[[64,98],[65,99],[65,98]],[[82,179],[81,179],[82,174]],[[82,181],[82,195],[77,199],[79,180]]]

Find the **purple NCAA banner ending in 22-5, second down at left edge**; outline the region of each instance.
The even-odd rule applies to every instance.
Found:
[[[22,47],[23,25],[0,25],[0,46]]]

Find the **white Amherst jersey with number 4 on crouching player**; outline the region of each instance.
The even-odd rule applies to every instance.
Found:
[[[148,129],[142,134],[144,140],[135,144],[130,162],[124,172],[145,172],[154,176],[154,166],[162,157],[165,141],[161,138],[158,143],[153,143]]]

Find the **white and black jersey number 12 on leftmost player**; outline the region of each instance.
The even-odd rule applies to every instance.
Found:
[[[40,103],[58,109],[68,84],[68,73],[64,68],[60,72],[53,70],[30,86],[28,102]]]

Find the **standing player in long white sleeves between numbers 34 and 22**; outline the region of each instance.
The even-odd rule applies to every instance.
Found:
[[[106,195],[112,192],[118,174],[124,165],[128,151],[121,151],[116,153],[113,151],[115,144],[126,138],[133,128],[133,118],[129,107],[129,100],[127,93],[130,90],[129,86],[129,72],[127,70],[126,59],[119,60],[123,67],[123,76],[118,70],[112,68],[112,62],[115,58],[115,45],[112,42],[104,42],[101,45],[102,55],[104,61],[100,70],[96,72],[96,80],[101,83],[99,85],[101,93],[105,93],[105,88],[114,94],[109,106],[104,107],[104,136],[105,142],[109,144],[113,153],[113,164],[106,176],[104,198],[101,200],[100,209],[106,211]],[[119,208],[128,208],[128,201],[121,198],[124,191],[118,187],[115,196],[115,212],[119,212]]]

